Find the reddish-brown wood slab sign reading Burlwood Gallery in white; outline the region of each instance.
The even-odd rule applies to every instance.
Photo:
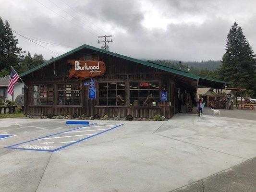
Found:
[[[67,60],[72,66],[69,70],[68,78],[78,78],[80,80],[89,77],[101,76],[106,72],[106,65],[103,61],[98,60]]]

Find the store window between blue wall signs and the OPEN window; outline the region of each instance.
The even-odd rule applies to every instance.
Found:
[[[99,105],[123,106],[125,105],[124,82],[99,83]]]

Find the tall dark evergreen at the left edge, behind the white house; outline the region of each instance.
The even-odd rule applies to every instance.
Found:
[[[12,34],[8,21],[3,22],[0,17],[0,71],[10,70],[11,65],[19,68],[19,61],[23,57],[22,48],[17,47],[18,39]]]

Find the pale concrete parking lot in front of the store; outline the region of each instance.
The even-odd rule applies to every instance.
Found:
[[[255,120],[89,122],[1,119],[1,191],[170,192],[256,156]]]

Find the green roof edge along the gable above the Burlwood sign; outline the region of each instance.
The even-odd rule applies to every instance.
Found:
[[[98,51],[98,52],[101,52],[101,53],[106,53],[108,55],[112,55],[112,56],[115,56],[115,57],[119,57],[119,58],[122,58],[122,59],[125,59],[125,60],[130,60],[130,61],[134,61],[136,63],[140,63],[140,64],[143,64],[143,65],[146,65],[146,66],[149,66],[149,67],[154,67],[154,68],[157,68],[157,69],[160,69],[160,70],[163,70],[163,71],[167,71],[167,72],[171,72],[171,73],[174,73],[174,74],[178,74],[178,75],[182,75],[182,76],[185,76],[185,77],[188,77],[188,78],[191,78],[191,79],[195,79],[195,80],[198,80],[199,77],[196,76],[196,75],[193,75],[191,73],[187,73],[187,72],[182,72],[182,71],[179,71],[179,70],[176,70],[176,69],[173,69],[173,68],[170,68],[170,67],[166,67],[166,66],[163,66],[163,65],[160,65],[160,64],[157,64],[157,63],[153,63],[153,62],[147,62],[147,61],[143,61],[143,60],[137,60],[137,59],[134,59],[134,58],[131,58],[131,57],[127,57],[127,56],[124,56],[124,55],[120,55],[118,53],[113,53],[113,52],[110,52],[110,51],[106,51],[104,49],[101,49],[101,48],[95,48],[95,47],[92,47],[92,46],[89,46],[89,45],[82,45],[78,48],[75,48],[59,57],[56,57],[52,60],[48,60],[48,61],[45,61],[44,63],[42,63],[41,65],[38,65],[37,67],[34,67],[26,72],[23,72],[20,74],[20,77],[24,77],[25,75],[28,75],[29,73],[31,72],[35,72],[47,65],[49,65],[50,63],[53,63],[57,60],[60,60],[70,54],[73,54],[74,52],[78,51],[78,50],[81,50],[83,48],[89,48],[89,49],[92,49],[92,50],[95,50],[95,51]]]

